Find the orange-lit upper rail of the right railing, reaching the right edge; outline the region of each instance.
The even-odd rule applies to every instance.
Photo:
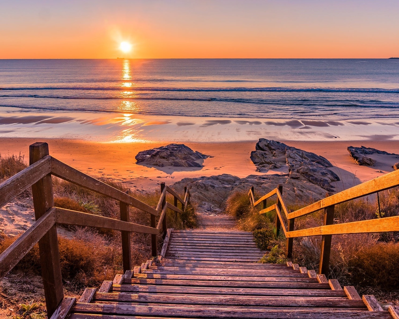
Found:
[[[344,203],[352,199],[367,196],[378,191],[384,191],[385,189],[397,186],[399,186],[399,171],[393,171],[375,179],[371,179],[371,181],[364,182],[360,185],[326,197],[325,199],[322,199],[312,205],[308,205],[302,209],[288,213],[288,219],[304,216],[331,205]]]

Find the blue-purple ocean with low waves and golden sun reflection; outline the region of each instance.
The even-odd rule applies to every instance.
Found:
[[[2,109],[24,114],[394,119],[399,118],[399,60],[0,60]]]

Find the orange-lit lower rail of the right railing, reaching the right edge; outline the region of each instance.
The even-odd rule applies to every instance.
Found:
[[[292,232],[288,232],[286,236],[305,237],[331,234],[359,234],[367,232],[393,231],[399,231],[399,216],[294,230]]]

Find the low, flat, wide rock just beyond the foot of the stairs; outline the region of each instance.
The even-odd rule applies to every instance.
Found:
[[[240,179],[237,176],[222,174],[184,178],[174,183],[172,188],[183,192],[186,185],[190,190],[191,201],[196,203],[198,210],[202,212],[223,211],[225,201],[233,192],[248,192],[251,186],[254,186],[255,193],[264,195],[282,185],[283,197],[287,203],[308,203],[326,196],[326,191],[317,185],[281,175],[249,175]]]

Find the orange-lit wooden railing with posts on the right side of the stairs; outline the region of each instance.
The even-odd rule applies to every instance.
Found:
[[[254,188],[251,187],[248,196],[253,207],[262,203],[263,208],[259,211],[259,214],[276,211],[276,235],[279,233],[281,227],[286,236],[286,256],[288,258],[292,257],[294,238],[322,236],[319,273],[328,274],[332,235],[399,231],[399,216],[334,224],[335,205],[397,186],[399,186],[399,170],[371,179],[293,212],[288,211],[284,204],[282,186],[273,189],[257,201],[255,201]],[[275,195],[277,197],[276,203],[267,207],[267,200]],[[320,211],[321,209],[324,210],[322,226],[294,229],[296,218]]]

